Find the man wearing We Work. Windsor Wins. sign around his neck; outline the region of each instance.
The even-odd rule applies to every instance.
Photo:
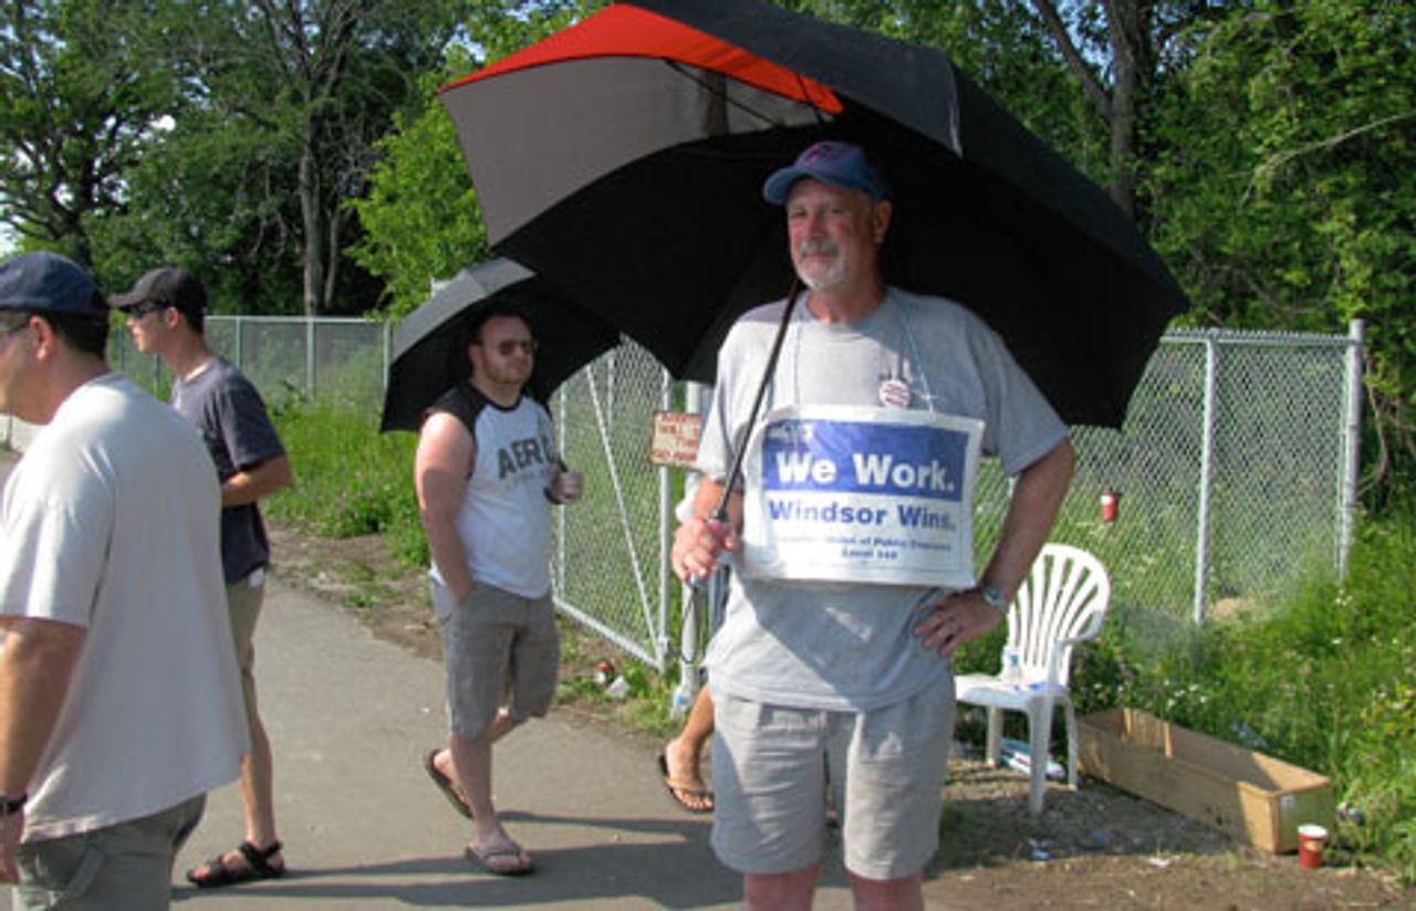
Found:
[[[711,573],[722,550],[739,559],[707,661],[718,727],[714,849],[743,873],[748,907],[809,907],[828,781],[857,907],[919,908],[953,733],[950,656],[1001,621],[1051,532],[1072,446],[978,317],[885,284],[878,250],[892,201],[861,149],[817,143],[775,173],[763,195],[786,208],[807,290],[748,313],[724,342],[698,454],[705,482],[673,552],[685,580]],[[831,440],[854,450],[833,461]],[[973,454],[905,464],[906,453],[946,451],[940,440]],[[742,485],[729,471],[739,450]],[[954,498],[954,512],[929,512],[944,538],[919,546],[956,560],[971,553],[980,450],[1015,485],[977,581],[969,556],[952,584],[885,566],[915,529],[884,525],[922,515],[910,512],[920,497]],[[725,494],[742,509],[721,509]],[[743,519],[728,526],[722,515]],[[833,543],[792,550],[803,529]],[[864,542],[872,546],[862,557]],[[800,566],[827,552],[858,563]]]

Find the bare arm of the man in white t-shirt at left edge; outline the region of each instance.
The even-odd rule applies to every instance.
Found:
[[[0,648],[0,794],[18,798],[50,743],[86,629],[52,620],[7,618]],[[14,849],[24,812],[0,819],[0,881],[18,881]]]

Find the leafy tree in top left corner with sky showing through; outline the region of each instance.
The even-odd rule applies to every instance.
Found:
[[[89,266],[89,219],[125,202],[125,174],[177,102],[144,35],[154,3],[0,7],[0,218]]]

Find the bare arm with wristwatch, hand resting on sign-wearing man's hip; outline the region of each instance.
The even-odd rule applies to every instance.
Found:
[[[984,569],[983,580],[1003,593],[1004,603],[1022,584],[1056,522],[1058,509],[1072,482],[1076,454],[1070,440],[1062,440],[1042,458],[1018,474],[1012,499],[1003,521],[1003,535]],[[956,591],[930,605],[915,627],[923,646],[943,656],[953,655],[964,642],[990,632],[1003,621],[1003,611],[984,601],[978,588]]]

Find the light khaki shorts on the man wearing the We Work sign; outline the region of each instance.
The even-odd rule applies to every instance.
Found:
[[[787,709],[714,690],[718,859],[790,873],[821,859],[827,765],[845,869],[869,880],[919,873],[939,847],[953,678],[871,712]]]

